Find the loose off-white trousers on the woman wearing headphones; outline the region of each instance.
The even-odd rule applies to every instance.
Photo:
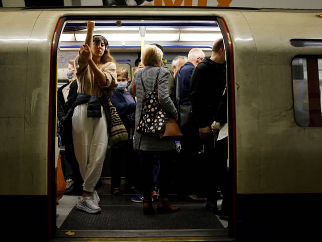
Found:
[[[93,192],[99,181],[107,150],[108,133],[105,112],[102,117],[87,117],[87,103],[75,107],[72,116],[72,138],[84,191]]]

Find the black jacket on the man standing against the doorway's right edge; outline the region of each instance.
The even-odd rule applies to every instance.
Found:
[[[193,71],[189,101],[193,119],[199,128],[210,126],[215,120],[225,85],[226,64],[218,64],[205,57]]]

